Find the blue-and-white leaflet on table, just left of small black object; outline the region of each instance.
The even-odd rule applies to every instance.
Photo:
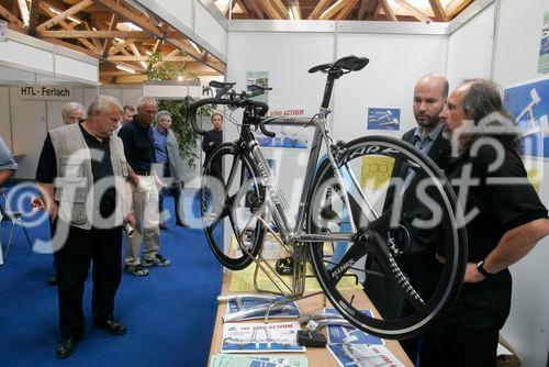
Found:
[[[298,344],[298,321],[223,324],[222,353],[305,352]]]

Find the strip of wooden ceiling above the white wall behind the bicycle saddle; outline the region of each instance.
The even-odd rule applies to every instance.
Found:
[[[228,19],[448,22],[474,0],[215,0]]]

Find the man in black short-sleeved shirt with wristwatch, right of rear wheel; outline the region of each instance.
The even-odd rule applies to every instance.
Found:
[[[514,123],[491,81],[461,84],[440,119],[458,153],[447,176],[466,199],[466,218],[472,216],[466,223],[469,263],[453,310],[425,341],[430,346],[421,366],[495,366],[511,309],[508,267],[549,234],[547,209],[527,179]]]

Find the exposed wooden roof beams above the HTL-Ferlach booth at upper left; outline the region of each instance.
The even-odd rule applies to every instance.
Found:
[[[225,73],[222,60],[133,1],[0,0],[2,19],[14,31],[99,59],[103,84],[141,84],[154,53],[161,55],[156,66],[169,62],[184,69],[181,77]]]

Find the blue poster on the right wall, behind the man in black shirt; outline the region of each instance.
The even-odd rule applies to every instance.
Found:
[[[505,88],[503,101],[523,133],[522,154],[549,158],[549,78]]]

